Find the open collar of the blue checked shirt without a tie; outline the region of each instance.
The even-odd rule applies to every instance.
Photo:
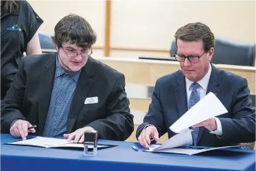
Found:
[[[66,72],[63,70],[61,64],[58,62],[58,53],[56,54],[56,69],[55,69],[55,78],[60,77],[62,74],[69,74],[71,78],[73,78],[76,83],[78,82],[78,79],[80,77],[82,69],[76,72]]]

